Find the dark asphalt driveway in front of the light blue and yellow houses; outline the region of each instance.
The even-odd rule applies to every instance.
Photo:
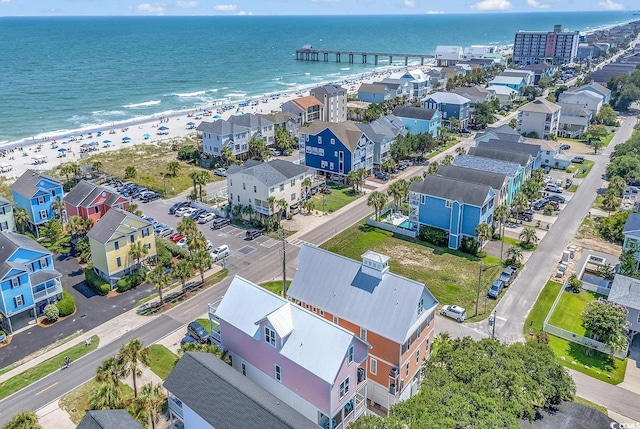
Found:
[[[0,368],[4,368],[75,332],[88,331],[133,308],[142,298],[155,293],[152,285],[143,284],[113,297],[98,295],[84,282],[84,270],[75,258],[58,255],[54,262],[62,274],[62,285],[76,299],[76,313],[43,328],[33,326],[13,336],[11,344],[2,348]]]

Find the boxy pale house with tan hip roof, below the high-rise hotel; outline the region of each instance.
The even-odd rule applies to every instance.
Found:
[[[520,134],[530,137],[548,139],[550,135],[558,135],[560,123],[560,106],[544,97],[518,107],[516,129]]]

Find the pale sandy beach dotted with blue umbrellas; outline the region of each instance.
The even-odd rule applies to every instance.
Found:
[[[393,71],[404,69],[405,67],[394,66],[366,75],[354,76],[347,79],[348,84],[343,86],[349,93],[354,93],[362,83],[371,83],[388,76]],[[309,90],[294,89],[281,92],[278,98],[265,94],[260,98],[248,99],[250,101],[257,100],[258,104],[253,106],[237,107],[238,102],[236,101],[229,103],[236,107],[226,111],[219,110],[222,105],[207,106],[202,109],[189,109],[167,115],[158,114],[151,118],[132,119],[77,129],[68,131],[64,135],[37,136],[8,143],[0,147],[6,152],[0,157],[0,177],[13,181],[28,169],[47,171],[65,162],[77,162],[82,156],[94,153],[182,138],[194,134],[195,129],[203,121],[213,122],[217,119],[228,119],[231,115],[241,114],[238,110],[242,113],[279,112],[280,106],[284,102],[307,95],[309,95]],[[207,111],[211,113],[206,114]],[[163,129],[161,130],[161,128]],[[87,149],[91,149],[91,151],[86,152]],[[11,171],[6,171],[9,166]]]

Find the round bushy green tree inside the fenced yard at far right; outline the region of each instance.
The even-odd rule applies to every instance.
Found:
[[[582,326],[601,343],[611,347],[611,354],[627,347],[629,331],[627,308],[606,299],[598,298],[587,304],[580,317]]]

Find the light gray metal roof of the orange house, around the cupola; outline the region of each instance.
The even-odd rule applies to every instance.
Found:
[[[427,287],[387,272],[382,279],[365,274],[362,263],[317,247],[303,245],[288,294],[398,344],[438,301]],[[327,267],[330,267],[329,269]],[[418,314],[423,300],[425,311]]]

